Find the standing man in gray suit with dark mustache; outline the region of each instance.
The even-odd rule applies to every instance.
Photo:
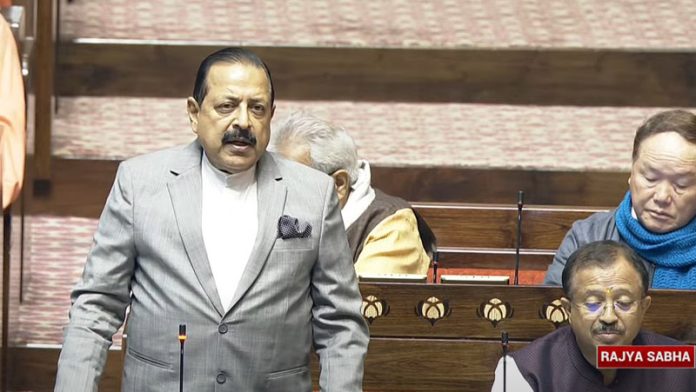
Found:
[[[369,340],[330,177],[266,153],[273,84],[253,53],[208,56],[197,140],[123,162],[99,221],[56,391],[95,391],[130,305],[125,391],[361,391]]]

